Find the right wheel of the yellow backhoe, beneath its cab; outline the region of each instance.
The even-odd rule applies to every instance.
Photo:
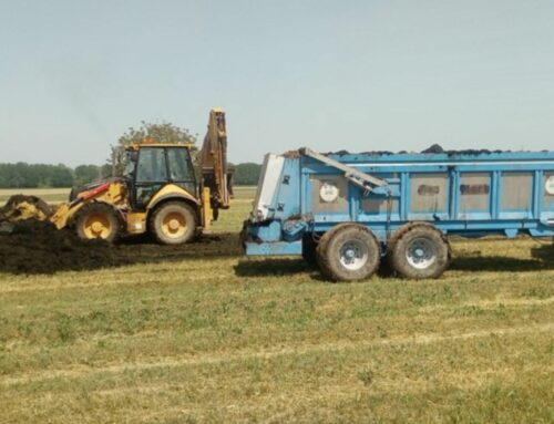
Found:
[[[195,210],[184,201],[167,201],[156,207],[148,218],[148,228],[162,245],[182,245],[196,235]]]

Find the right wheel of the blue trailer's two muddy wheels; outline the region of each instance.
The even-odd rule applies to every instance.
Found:
[[[439,278],[449,267],[450,258],[448,239],[430,224],[400,228],[389,241],[389,266],[403,278]]]

